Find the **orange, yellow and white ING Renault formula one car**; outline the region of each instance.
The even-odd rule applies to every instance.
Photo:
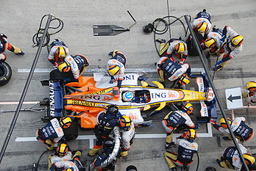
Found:
[[[141,111],[155,107],[154,111],[160,111],[168,103],[180,101],[200,101],[201,116],[213,117],[212,111],[216,110],[215,99],[205,76],[194,76],[199,91],[166,89],[157,81],[152,81],[155,87],[149,86],[145,81],[141,81],[142,85],[138,86],[138,78],[137,73],[126,73],[117,95],[113,93],[116,83],[110,84],[110,77],[102,74],[94,74],[94,77],[80,76],[78,82],[70,82],[64,86],[60,86],[60,81],[51,79],[48,117],[66,114],[77,117],[82,128],[94,128],[97,114],[110,104],[115,104],[121,114],[128,115],[135,124],[142,124],[151,121],[144,121]]]

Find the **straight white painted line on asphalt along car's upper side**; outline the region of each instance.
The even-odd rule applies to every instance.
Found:
[[[50,68],[36,68],[34,73],[49,73],[52,69]],[[204,68],[191,68],[192,72],[205,72]],[[18,73],[29,73],[30,69],[20,68],[18,69]],[[88,73],[106,73],[106,68],[90,68],[87,69]],[[126,68],[125,72],[146,72],[146,73],[156,73],[155,68]]]

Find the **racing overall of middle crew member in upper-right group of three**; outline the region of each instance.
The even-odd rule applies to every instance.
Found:
[[[207,38],[213,38],[216,40],[216,46],[210,48],[209,54],[216,54],[219,48],[223,45],[223,42],[221,41],[222,32],[222,29],[213,28],[213,31],[207,34]]]

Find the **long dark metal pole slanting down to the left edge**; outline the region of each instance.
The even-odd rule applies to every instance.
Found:
[[[25,96],[26,96],[26,92],[27,92],[27,90],[29,89],[29,84],[30,84],[30,81],[31,81],[32,76],[33,76],[33,73],[34,73],[35,66],[36,66],[36,64],[37,64],[37,62],[38,62],[38,58],[39,58],[39,56],[40,56],[41,49],[42,49],[42,47],[43,47],[43,41],[44,41],[45,38],[46,38],[46,33],[47,33],[48,28],[49,28],[49,25],[50,25],[50,23],[51,23],[51,18],[52,18],[52,14],[49,14],[49,17],[48,17],[48,20],[47,20],[47,23],[46,23],[46,28],[45,28],[45,30],[43,31],[43,37],[42,37],[42,39],[41,39],[41,41],[40,41],[40,45],[38,46],[38,51],[37,51],[37,54],[35,55],[35,59],[34,59],[34,61],[33,61],[33,63],[32,63],[32,67],[31,67],[31,70],[30,70],[30,72],[29,72],[29,76],[28,76],[28,78],[26,79],[26,84],[25,84],[25,86],[24,86],[24,90],[23,90],[23,92],[22,92],[22,94],[21,94],[20,101],[19,101],[19,103],[18,103],[17,109],[16,109],[15,114],[14,114],[14,116],[13,116],[13,121],[12,121],[12,123],[11,123],[11,125],[10,125],[10,128],[9,128],[9,130],[8,130],[7,136],[6,136],[5,139],[4,139],[4,144],[3,144],[2,147],[1,147],[0,164],[1,164],[1,160],[3,159],[5,150],[6,150],[6,148],[7,148],[8,142],[9,142],[9,140],[10,140],[10,137],[11,137],[11,135],[12,135],[12,133],[13,133],[13,128],[14,128],[14,126],[15,126],[15,123],[16,123],[17,119],[18,119],[18,114],[20,113],[22,103],[23,103],[24,98],[25,98]]]

